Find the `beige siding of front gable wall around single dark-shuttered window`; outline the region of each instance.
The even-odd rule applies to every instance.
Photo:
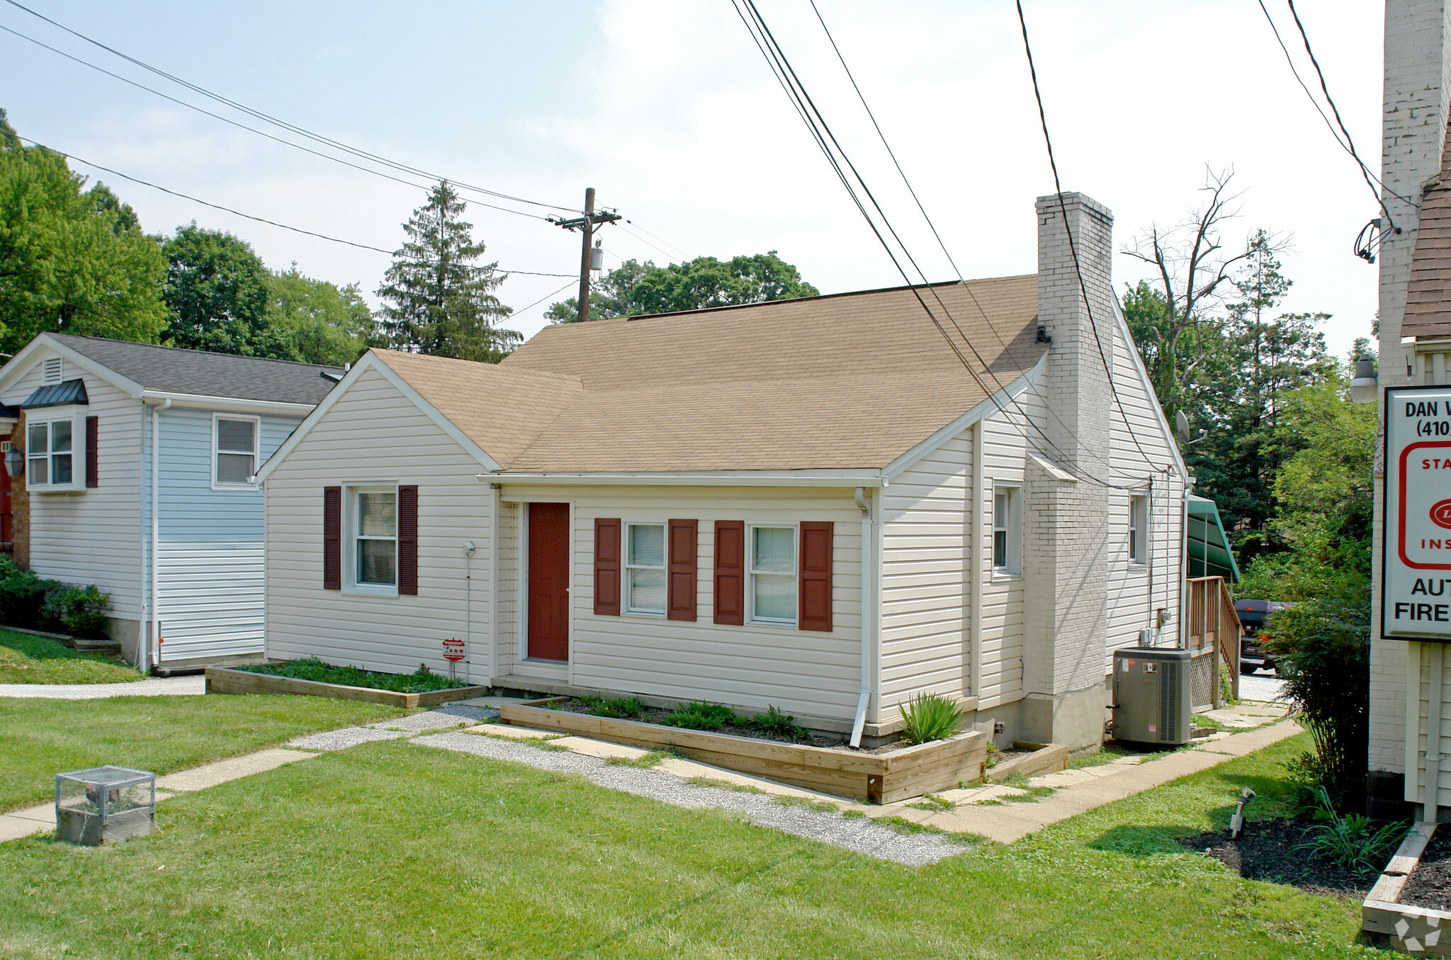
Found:
[[[482,471],[377,371],[366,371],[267,479],[267,654],[369,670],[445,671],[463,638],[464,554],[473,541],[470,676],[486,679],[490,490]],[[322,589],[322,489],[418,484],[418,596]],[[344,553],[345,555],[345,553]],[[460,664],[461,666],[461,664]]]

